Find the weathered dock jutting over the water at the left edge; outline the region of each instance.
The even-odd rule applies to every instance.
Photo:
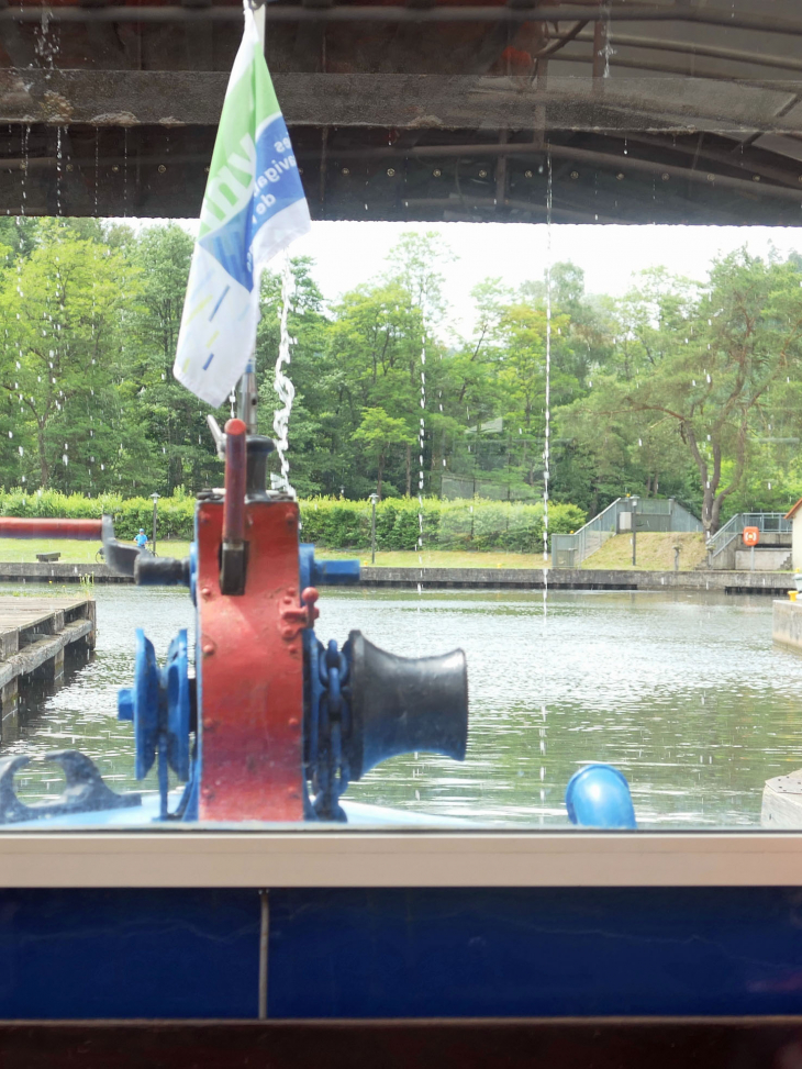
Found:
[[[57,684],[68,646],[94,647],[91,598],[0,598],[0,712],[3,736],[26,683]]]

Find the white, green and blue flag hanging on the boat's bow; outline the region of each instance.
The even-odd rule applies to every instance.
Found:
[[[179,382],[215,408],[254,352],[263,268],[310,226],[298,164],[246,0],[172,368]]]

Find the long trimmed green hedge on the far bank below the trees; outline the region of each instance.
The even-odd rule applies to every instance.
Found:
[[[327,549],[369,549],[369,501],[314,498],[301,501],[301,537]],[[56,490],[0,493],[0,515],[114,517],[120,538],[133,538],[140,527],[151,533],[153,501],[104,494],[85,498]],[[158,538],[192,537],[194,498],[181,491],[158,502]],[[572,504],[550,504],[550,534],[567,534],[584,523],[584,513]],[[414,549],[423,539],[427,549],[506,549],[537,553],[543,548],[543,503],[508,501],[439,501],[423,508],[414,498],[388,498],[376,506],[376,544],[379,549]]]

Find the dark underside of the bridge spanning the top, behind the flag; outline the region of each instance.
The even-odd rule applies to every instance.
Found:
[[[679,3],[675,21],[632,24],[615,0],[609,22],[570,7],[537,21],[535,5],[532,22],[439,23],[409,7],[383,24],[344,7],[352,21],[267,8],[316,219],[538,222],[550,170],[556,222],[802,223],[794,0],[771,5],[782,32],[750,25],[764,5],[749,0],[732,25],[688,23],[711,9]],[[0,211],[197,216],[237,8],[135,9],[142,23],[49,10],[45,30],[21,21],[34,9],[0,11]]]

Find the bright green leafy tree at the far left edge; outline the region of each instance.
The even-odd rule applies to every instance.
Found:
[[[138,277],[129,271],[122,288],[124,272],[120,254],[54,220],[40,225],[36,246],[3,278],[0,383],[19,405],[22,470],[43,488],[130,485],[149,453],[121,344]]]

